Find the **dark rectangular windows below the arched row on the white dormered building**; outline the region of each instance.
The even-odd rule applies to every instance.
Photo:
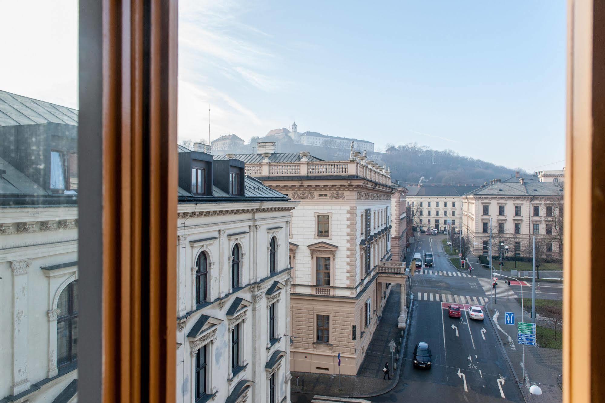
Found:
[[[276,339],[275,310],[277,302],[269,305],[269,340]],[[241,340],[244,338],[243,325],[238,323],[231,330],[231,371],[237,372],[242,365],[241,359]],[[212,393],[212,387],[209,385],[208,365],[211,363],[208,357],[208,345],[200,347],[195,353],[195,401],[198,401]],[[275,374],[269,378],[269,402],[276,401]]]

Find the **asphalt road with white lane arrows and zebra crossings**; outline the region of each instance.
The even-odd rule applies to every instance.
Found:
[[[429,237],[422,235],[416,243],[416,251],[420,253],[431,251],[432,248],[435,264],[430,270],[434,274],[416,274],[411,280],[415,305],[404,348],[405,366],[399,382],[385,395],[367,400],[377,403],[408,399],[422,402],[521,403],[523,397],[491,322],[488,319],[469,319],[466,313],[456,319],[447,315],[445,306],[448,304],[442,302],[443,296],[485,298],[486,295],[479,279],[456,273],[457,270],[442,251],[442,237],[432,237],[433,242],[429,242]],[[422,299],[416,298],[417,293],[421,293]],[[439,301],[436,300],[437,295]],[[420,341],[428,342],[433,353],[429,370],[413,366],[414,346]],[[292,395],[295,403],[308,403],[312,399],[312,395]]]

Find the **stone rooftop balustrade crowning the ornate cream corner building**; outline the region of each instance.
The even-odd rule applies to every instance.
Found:
[[[301,153],[302,154],[302,153]],[[302,156],[301,159],[306,159]],[[260,162],[246,164],[250,176],[359,176],[379,184],[391,184],[391,172],[373,161],[357,157],[350,161]]]

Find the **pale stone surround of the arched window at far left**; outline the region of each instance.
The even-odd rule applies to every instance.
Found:
[[[48,370],[47,378],[53,378],[58,375],[59,370],[57,369],[57,316],[59,316],[60,309],[57,308],[59,304],[59,296],[61,292],[71,282],[78,279],[77,265],[70,267],[63,267],[57,270],[46,271],[44,275],[48,278],[48,287],[53,287],[53,277],[67,275],[64,281],[62,281],[55,289],[54,293],[48,294]]]

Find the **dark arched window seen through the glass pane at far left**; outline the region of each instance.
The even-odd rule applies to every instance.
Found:
[[[57,368],[77,359],[77,280],[61,291],[57,308]]]

